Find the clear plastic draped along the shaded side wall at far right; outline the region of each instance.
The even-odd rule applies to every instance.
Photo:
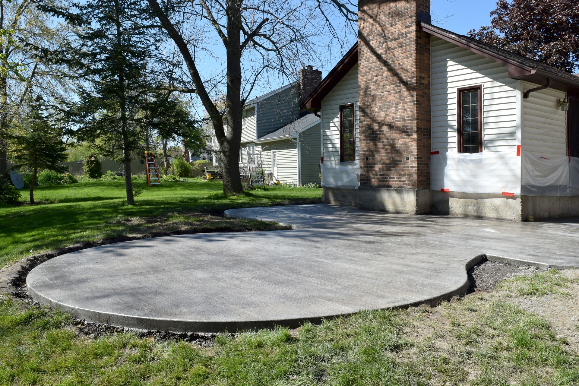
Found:
[[[579,158],[541,157],[522,152],[521,194],[579,196]]]

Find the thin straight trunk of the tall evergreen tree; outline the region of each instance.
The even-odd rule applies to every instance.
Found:
[[[120,6],[119,1],[115,1],[115,23],[116,23],[116,43],[118,49],[123,45],[122,32],[120,30]],[[123,58],[124,60],[124,58]],[[129,148],[129,126],[127,124],[126,90],[124,84],[124,73],[122,66],[119,66],[119,107],[121,134],[123,136],[123,162],[124,162],[124,188],[127,192],[127,205],[134,205],[133,181],[131,180],[131,149]]]

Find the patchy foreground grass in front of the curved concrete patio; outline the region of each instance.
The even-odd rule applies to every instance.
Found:
[[[551,296],[577,317],[572,272],[529,275],[434,308],[219,336],[209,348],[125,333],[90,339],[62,313],[6,300],[0,385],[577,385],[577,345],[515,304]]]

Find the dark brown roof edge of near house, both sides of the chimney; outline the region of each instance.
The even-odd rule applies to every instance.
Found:
[[[566,93],[579,94],[579,74],[572,74],[558,68],[529,59],[519,54],[489,45],[469,38],[468,36],[455,34],[455,32],[436,27],[428,23],[420,23],[420,28],[428,34],[438,36],[445,41],[456,44],[471,52],[490,58],[508,68],[508,76],[514,79],[527,80],[536,84],[545,84],[547,79],[551,81],[549,87]],[[319,111],[321,101],[338,84],[340,80],[358,63],[358,43],[340,59],[338,64],[328,73],[322,82],[312,91],[309,97],[300,105],[301,109]]]

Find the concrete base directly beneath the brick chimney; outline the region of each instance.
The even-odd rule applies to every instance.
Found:
[[[427,189],[358,189],[358,207],[372,211],[429,214],[431,206],[430,190]]]

